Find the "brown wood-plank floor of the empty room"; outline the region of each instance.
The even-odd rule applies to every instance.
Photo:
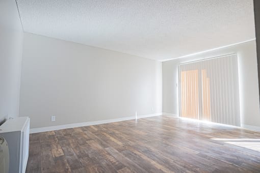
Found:
[[[160,116],[34,133],[27,172],[260,172],[260,132]]]

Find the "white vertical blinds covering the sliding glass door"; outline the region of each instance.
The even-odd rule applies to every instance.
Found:
[[[180,64],[181,117],[240,126],[237,54]]]

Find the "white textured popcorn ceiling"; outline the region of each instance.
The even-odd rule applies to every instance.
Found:
[[[252,0],[17,0],[24,32],[159,61],[255,38]]]

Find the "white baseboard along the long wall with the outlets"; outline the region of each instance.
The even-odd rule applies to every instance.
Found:
[[[162,114],[163,114],[162,112],[153,113],[153,114],[144,114],[144,115],[141,115],[141,116],[137,116],[137,119],[161,116]],[[109,120],[84,122],[84,123],[64,124],[64,125],[58,125],[58,126],[39,127],[39,128],[32,128],[32,129],[30,129],[30,133],[39,133],[39,132],[61,130],[61,129],[68,129],[68,128],[74,128],[74,127],[82,127],[82,126],[92,126],[92,125],[114,123],[114,122],[120,122],[120,121],[126,121],[126,120],[134,120],[134,119],[136,119],[136,116],[124,117],[124,118],[119,118],[119,119],[109,119]]]

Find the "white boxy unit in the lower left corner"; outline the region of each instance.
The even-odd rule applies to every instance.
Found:
[[[6,139],[9,147],[9,172],[25,172],[29,156],[29,132],[28,117],[9,119],[0,126],[0,135]]]

